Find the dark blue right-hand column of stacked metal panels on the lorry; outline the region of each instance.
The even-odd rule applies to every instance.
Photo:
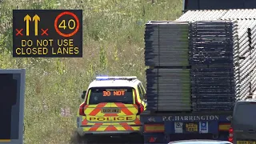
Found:
[[[237,25],[229,21],[190,24],[192,109],[230,110],[235,101],[238,70]]]

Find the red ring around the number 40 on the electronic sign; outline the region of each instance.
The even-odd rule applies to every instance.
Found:
[[[75,21],[77,22],[77,27],[70,34],[63,34],[60,30],[58,30],[58,26],[57,26],[58,19],[61,18],[63,15],[71,15],[75,19]],[[58,14],[58,16],[55,18],[55,21],[54,21],[54,28],[57,31],[57,33],[60,34],[62,37],[72,37],[74,34],[76,34],[78,32],[79,26],[80,26],[80,22],[79,22],[79,19],[78,19],[77,15],[74,14],[74,13],[68,12],[68,11],[65,11],[65,12],[62,12],[61,14]]]

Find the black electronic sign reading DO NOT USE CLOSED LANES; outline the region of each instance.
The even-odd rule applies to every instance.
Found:
[[[82,57],[82,10],[13,10],[13,57]]]

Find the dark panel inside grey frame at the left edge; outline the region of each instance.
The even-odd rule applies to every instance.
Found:
[[[0,142],[10,142],[10,139],[18,139],[18,118],[12,118],[12,114],[18,116],[18,83],[13,79],[13,74],[0,74]],[[13,112],[12,112],[13,111]],[[15,130],[11,130],[12,127]],[[5,140],[5,141],[3,141]]]

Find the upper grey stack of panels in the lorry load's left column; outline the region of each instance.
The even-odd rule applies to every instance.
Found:
[[[145,32],[146,66],[189,65],[188,22],[149,22]]]

